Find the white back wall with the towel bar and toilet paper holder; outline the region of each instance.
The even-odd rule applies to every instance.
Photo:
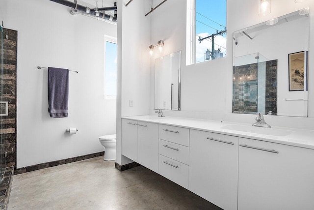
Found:
[[[49,0],[1,0],[4,27],[18,31],[17,168],[103,150],[98,137],[116,132],[116,101],[104,99],[104,35],[116,26]],[[69,117],[48,113],[46,69],[69,75]],[[77,127],[68,135],[65,129]]]

